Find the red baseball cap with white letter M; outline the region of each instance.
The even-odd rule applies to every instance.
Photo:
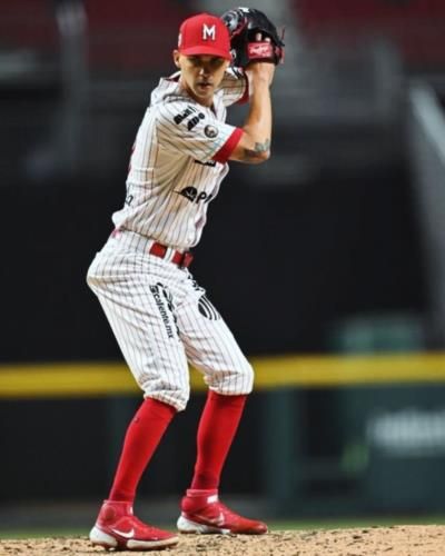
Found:
[[[185,56],[211,54],[231,60],[229,31],[216,16],[199,13],[182,21],[178,50]]]

